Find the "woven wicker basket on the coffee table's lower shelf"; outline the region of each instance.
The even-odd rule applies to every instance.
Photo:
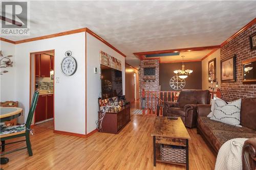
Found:
[[[161,161],[186,163],[186,149],[184,147],[160,144]]]

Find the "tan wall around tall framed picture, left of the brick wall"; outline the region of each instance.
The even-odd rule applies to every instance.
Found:
[[[208,86],[210,86],[210,83],[208,82],[208,77],[209,77],[208,62],[214,58],[216,58],[216,77],[219,82],[218,88],[220,88],[220,85],[221,85],[221,50],[219,49],[202,61],[202,89],[203,90],[209,90]],[[214,83],[214,85],[215,85],[215,83]],[[217,88],[215,87],[215,91],[216,90],[217,90]]]

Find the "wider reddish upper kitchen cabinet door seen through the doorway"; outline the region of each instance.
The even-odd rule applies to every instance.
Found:
[[[40,77],[50,77],[51,57],[40,54]]]

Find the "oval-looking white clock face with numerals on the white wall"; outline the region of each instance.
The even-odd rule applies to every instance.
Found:
[[[77,62],[74,57],[65,57],[61,62],[61,71],[66,76],[72,76],[75,74],[77,68]]]

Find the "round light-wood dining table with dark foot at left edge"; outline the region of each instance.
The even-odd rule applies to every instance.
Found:
[[[0,107],[0,122],[2,123],[17,118],[22,112],[23,109],[19,107]],[[1,164],[6,164],[8,162],[8,158],[1,158]]]

